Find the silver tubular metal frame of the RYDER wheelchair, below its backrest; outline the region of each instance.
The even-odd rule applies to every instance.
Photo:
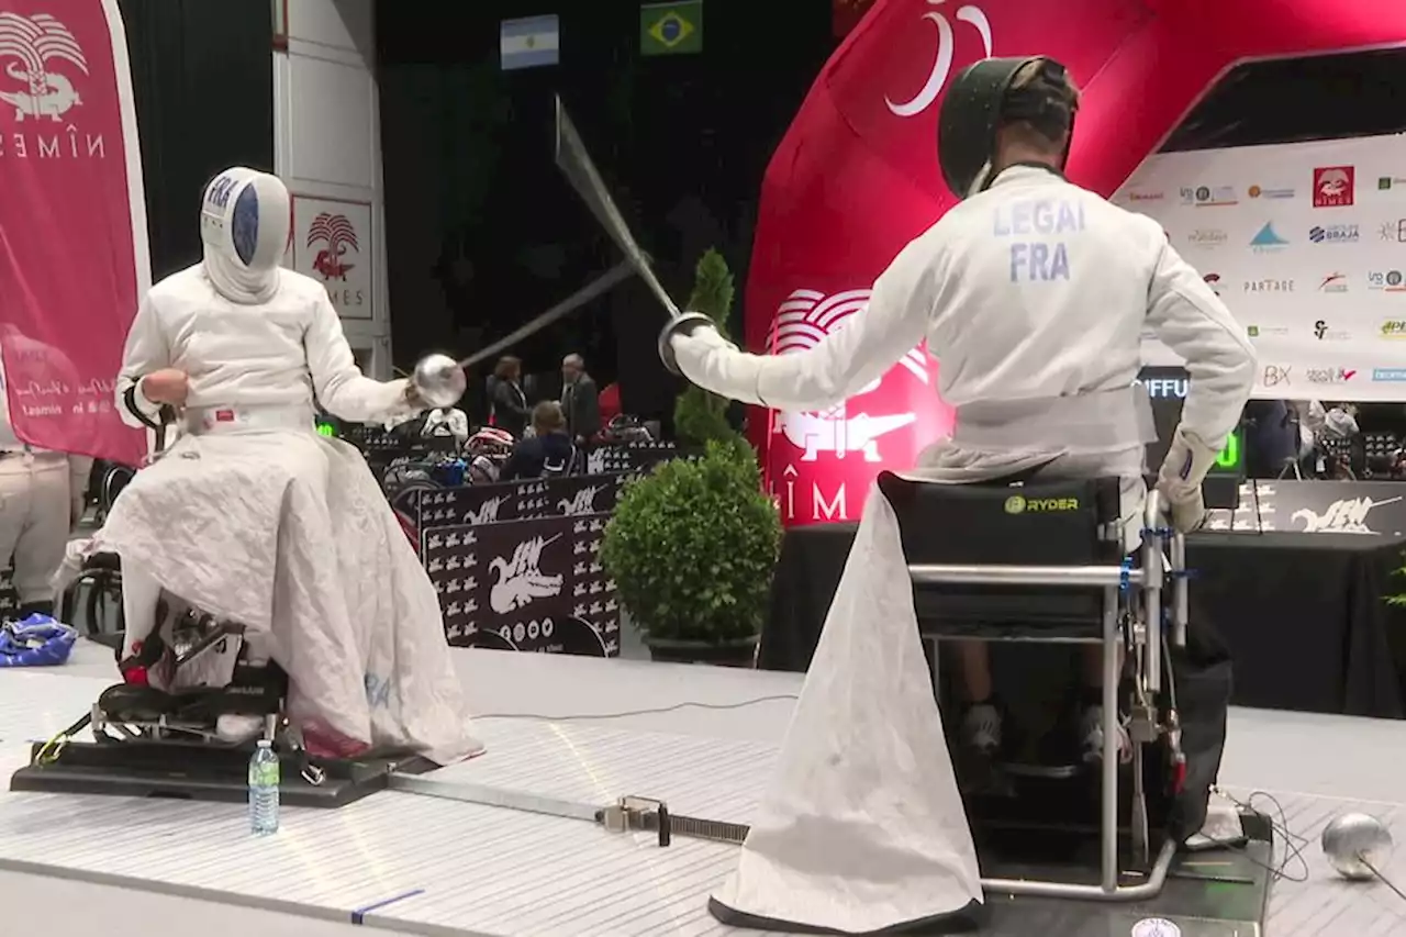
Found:
[[[1118,532],[1122,536],[1121,532]],[[1168,542],[1168,554],[1163,554],[1163,540]],[[1185,537],[1175,530],[1164,528],[1161,518],[1161,501],[1156,490],[1147,492],[1143,508],[1142,535],[1142,568],[1128,566],[965,566],[965,564],[908,564],[908,574],[914,585],[1045,585],[1088,588],[1101,587],[1104,591],[1102,636],[1104,649],[1104,739],[1118,737],[1119,710],[1118,689],[1122,682],[1122,667],[1119,649],[1122,642],[1119,616],[1123,611],[1119,595],[1125,591],[1137,589],[1142,595],[1143,620],[1130,620],[1129,630],[1132,650],[1135,651],[1135,694],[1142,702],[1135,708],[1133,725],[1129,726],[1132,737],[1132,775],[1133,802],[1132,826],[1133,848],[1139,861],[1147,857],[1147,812],[1143,793],[1143,746],[1154,741],[1161,732],[1180,736],[1180,727],[1168,720],[1166,727],[1157,723],[1156,696],[1163,687],[1163,592],[1170,592],[1170,602],[1166,602],[1171,619],[1170,642],[1175,647],[1187,643],[1187,543]],[[1170,582],[1168,582],[1170,580]],[[1136,608],[1129,602],[1129,611]],[[1140,627],[1139,627],[1140,626]],[[934,636],[934,691],[939,689],[936,644],[939,637]],[[1042,643],[1039,639],[1025,639]],[[1144,653],[1136,656],[1137,650]],[[1171,675],[1167,675],[1168,684]],[[1174,692],[1174,688],[1170,688]],[[1152,701],[1149,708],[1146,703]],[[1147,720],[1150,725],[1139,725]],[[1174,740],[1177,740],[1174,737]],[[983,878],[981,886],[988,892],[1002,895],[1029,895],[1040,898],[1063,898],[1101,902],[1137,902],[1156,898],[1167,881],[1167,872],[1177,851],[1177,844],[1167,839],[1159,851],[1147,881],[1139,885],[1119,884],[1118,862],[1118,770],[1119,760],[1104,757],[1101,764],[1099,791],[1099,884],[1080,885],[1073,882],[1045,881],[1045,879],[1002,879]],[[1140,826],[1140,841],[1139,841]]]

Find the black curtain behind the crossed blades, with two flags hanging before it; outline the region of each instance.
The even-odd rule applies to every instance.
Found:
[[[398,364],[470,353],[470,336],[510,332],[621,257],[553,165],[554,94],[669,293],[683,302],[716,246],[741,321],[762,173],[835,41],[827,4],[796,4],[779,27],[755,3],[703,6],[700,55],[645,58],[638,0],[441,4],[432,30],[413,4],[377,4],[391,302],[415,310],[392,322]],[[561,63],[502,72],[502,20],[548,13]],[[602,385],[620,380],[627,412],[666,418],[678,384],[659,325],[630,281],[515,352],[544,373],[581,352]]]

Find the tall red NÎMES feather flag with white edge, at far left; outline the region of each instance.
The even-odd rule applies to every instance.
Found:
[[[0,0],[0,352],[10,419],[45,449],[136,464],[112,402],[150,286],[117,0]]]

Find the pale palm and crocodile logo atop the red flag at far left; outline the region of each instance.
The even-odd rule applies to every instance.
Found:
[[[67,62],[84,76],[89,73],[83,48],[66,25],[48,13],[21,17],[0,13],[0,59],[7,62],[6,76],[24,83],[22,90],[0,91],[0,101],[14,108],[14,120],[62,122],[63,115],[83,103],[73,82],[59,72],[51,72],[56,62]]]

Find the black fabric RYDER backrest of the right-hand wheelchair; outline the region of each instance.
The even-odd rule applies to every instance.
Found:
[[[1119,478],[936,484],[879,477],[910,566],[1116,566]],[[1088,640],[1102,627],[1098,587],[924,584],[927,635]]]

